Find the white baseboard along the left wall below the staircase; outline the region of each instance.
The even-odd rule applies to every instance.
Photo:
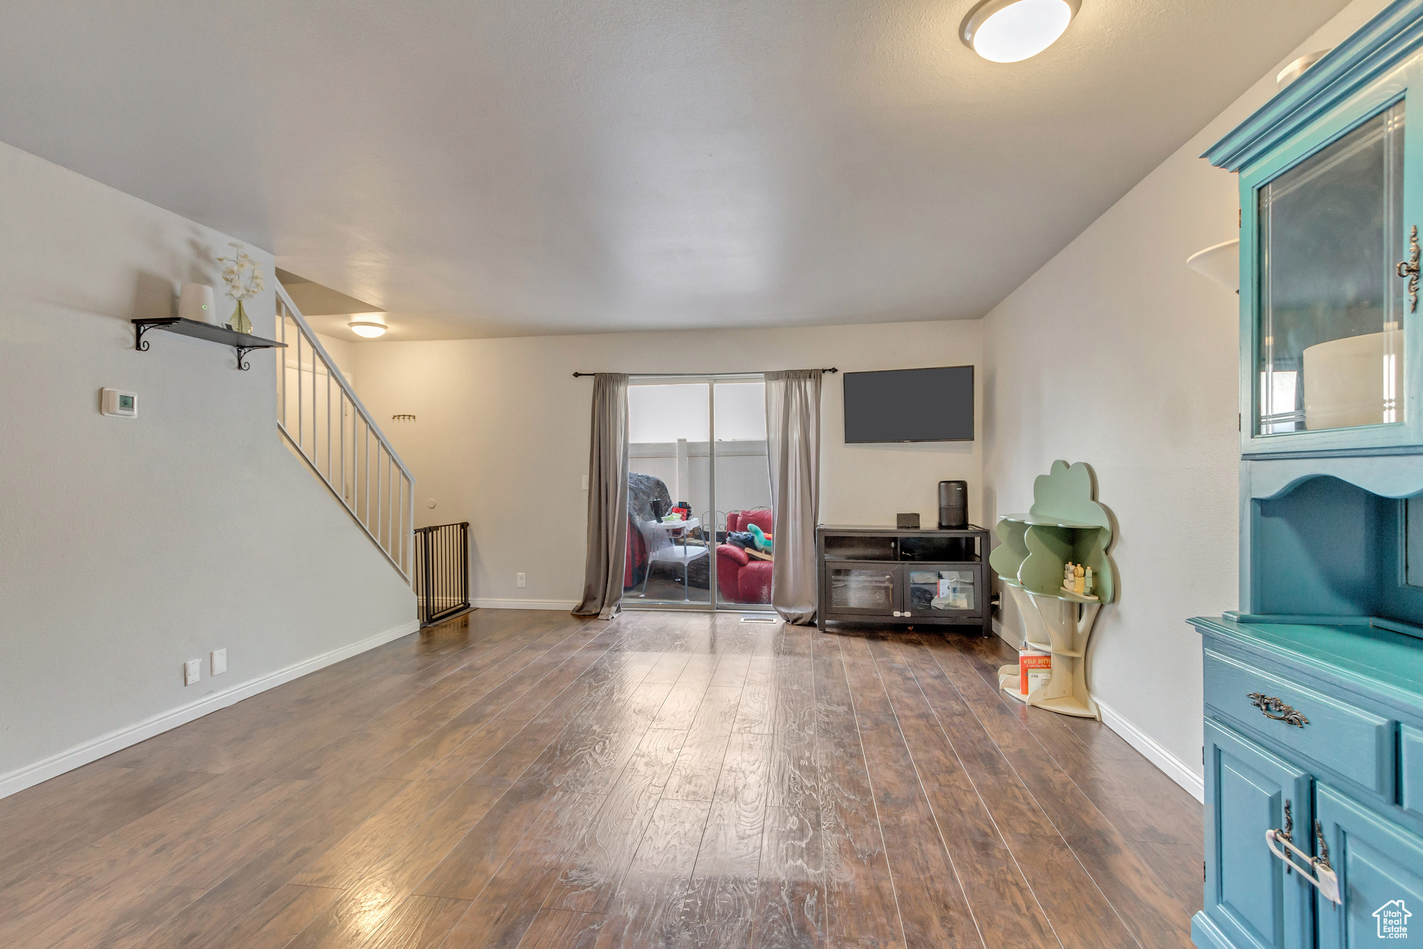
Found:
[[[142,721],[110,731],[108,734],[100,736],[98,738],[92,738],[83,744],[77,744],[67,751],[51,754],[50,757],[36,761],[34,764],[16,768],[9,774],[0,774],[0,798],[9,797],[16,791],[23,791],[24,788],[40,784],[41,781],[48,781],[50,778],[64,774],[65,771],[73,771],[74,768],[88,764],[90,761],[97,761],[104,756],[114,754],[115,751],[127,748],[131,744],[147,741],[155,734],[162,734],[164,731],[169,731],[178,726],[188,724],[194,719],[201,719],[209,711],[226,709],[228,706],[242,701],[243,699],[250,699],[252,696],[266,691],[268,689],[275,689],[285,682],[300,679],[302,676],[316,672],[317,669],[324,669],[326,666],[339,663],[343,659],[350,659],[351,656],[360,654],[369,649],[376,649],[377,646],[384,646],[394,639],[408,636],[410,633],[418,630],[420,620],[413,619],[408,623],[401,623],[400,626],[387,629],[383,633],[376,633],[369,639],[333,649],[322,653],[320,656],[313,656],[312,659],[302,660],[287,666],[286,669],[279,669],[273,673],[268,673],[266,676],[232,686],[223,691],[215,691],[186,706],[161,711],[157,716],[144,719]]]

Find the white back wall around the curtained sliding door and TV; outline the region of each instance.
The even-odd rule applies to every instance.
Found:
[[[583,589],[591,378],[610,373],[744,373],[961,366],[979,361],[979,323],[542,336],[356,346],[360,397],[391,425],[410,465],[416,522],[470,521],[472,596],[485,603],[572,605]],[[841,376],[821,403],[821,521],[938,518],[938,482],[979,482],[982,442],[847,445]],[[425,507],[435,499],[434,509]],[[970,518],[979,508],[969,509]],[[515,586],[515,573],[528,588]]]

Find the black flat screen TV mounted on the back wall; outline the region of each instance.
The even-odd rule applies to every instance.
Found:
[[[973,367],[845,373],[845,442],[973,441]]]

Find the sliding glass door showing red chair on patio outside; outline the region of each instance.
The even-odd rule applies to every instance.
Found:
[[[623,605],[768,609],[761,377],[635,376],[628,413]]]

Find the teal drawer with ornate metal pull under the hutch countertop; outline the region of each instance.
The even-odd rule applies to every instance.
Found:
[[[1308,720],[1254,704],[1252,693],[1278,699]],[[1264,669],[1205,650],[1205,704],[1227,719],[1305,754],[1375,794],[1393,798],[1393,723]]]

